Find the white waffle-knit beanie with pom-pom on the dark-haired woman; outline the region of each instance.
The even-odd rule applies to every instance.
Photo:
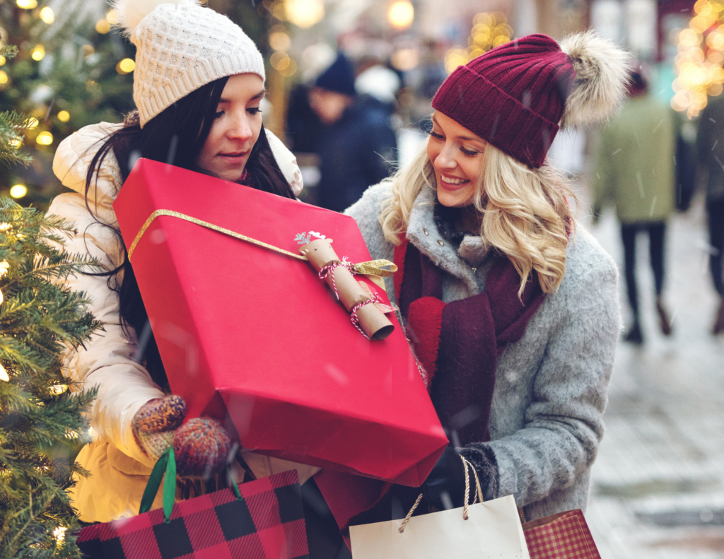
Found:
[[[141,127],[219,77],[266,79],[264,59],[246,33],[196,0],[115,0],[113,9],[137,49],[133,101]]]

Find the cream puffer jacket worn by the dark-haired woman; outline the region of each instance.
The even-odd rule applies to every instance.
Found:
[[[77,235],[67,241],[67,252],[88,253],[108,270],[119,266],[125,257],[122,242],[113,229],[118,224],[111,204],[122,185],[113,152],[104,160],[97,186],[93,184],[88,193],[88,207],[96,219],[86,207],[85,175],[103,141],[121,126],[101,122],[63,140],[55,154],[53,171],[64,186],[75,192],[57,196],[48,211],[75,222]],[[266,135],[279,167],[298,194],[302,177],[295,157],[273,134],[267,131]],[[122,282],[122,274],[111,282]],[[153,461],[135,441],[131,421],[144,403],[164,393],[133,359],[137,339],[134,332],[126,335],[122,330],[118,295],[109,287],[108,278],[78,274],[67,283],[88,295],[90,311],[103,321],[105,329],[94,335],[85,348],[68,352],[64,359],[67,377],[86,389],[98,387],[98,398],[90,410],[93,442],[85,445],[77,457],[91,475],[77,478],[69,495],[81,520],[108,522],[138,513]],[[257,478],[296,468],[303,483],[319,470],[249,452],[243,452],[243,456]],[[243,477],[240,468],[235,477],[237,481]],[[161,505],[160,495],[161,492],[153,508]]]

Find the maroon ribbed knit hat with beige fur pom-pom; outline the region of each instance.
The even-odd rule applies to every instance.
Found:
[[[626,93],[629,55],[592,31],[527,35],[458,67],[432,107],[530,167],[560,127],[602,122]]]

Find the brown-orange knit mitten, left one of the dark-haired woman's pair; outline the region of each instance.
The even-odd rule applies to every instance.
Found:
[[[148,400],[133,416],[133,434],[141,450],[157,461],[174,442],[174,431],[186,415],[186,403],[180,396]]]

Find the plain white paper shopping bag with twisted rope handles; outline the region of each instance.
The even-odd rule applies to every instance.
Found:
[[[467,468],[468,463],[466,478]],[[468,479],[466,484],[469,488]],[[481,497],[477,485],[476,497]],[[350,526],[350,539],[353,559],[530,559],[513,495],[405,520]]]

